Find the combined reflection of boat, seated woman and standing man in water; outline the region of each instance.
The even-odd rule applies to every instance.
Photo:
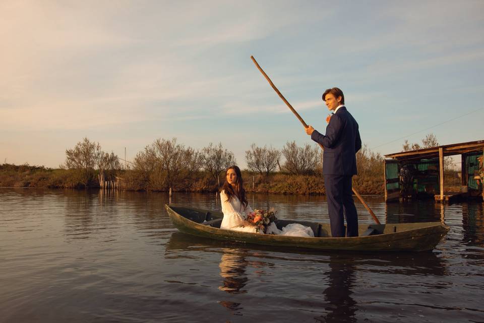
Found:
[[[391,277],[413,276],[416,280],[427,277],[426,283],[433,288],[448,288],[441,286],[439,278],[448,275],[447,259],[435,252],[354,253],[300,250],[218,241],[180,232],[171,235],[166,252],[172,252],[177,257],[194,257],[194,253],[204,252],[209,252],[213,259],[220,257],[221,284],[218,289],[226,292],[227,298],[224,297],[218,303],[234,315],[245,313],[245,307],[249,305],[244,306],[245,302],[242,300],[247,300],[247,295],[258,297],[259,290],[251,289],[257,285],[256,281],[251,280],[259,279],[253,276],[254,273],[263,273],[263,279],[271,281],[271,276],[278,276],[281,273],[287,275],[288,266],[306,267],[318,274],[308,278],[301,277],[298,281],[296,279],[293,283],[297,285],[288,285],[286,289],[277,286],[279,292],[274,297],[288,308],[317,308],[319,314],[314,319],[321,322],[355,322],[358,302],[361,301],[356,298],[355,292],[368,288],[369,282],[392,285],[391,281],[379,279],[385,274]],[[284,262],[283,266],[280,266],[281,261]],[[293,263],[289,264],[288,261]],[[308,285],[308,281],[314,281],[317,285]],[[321,288],[318,288],[319,286]],[[298,305],[294,305],[294,299],[290,296],[284,295],[287,288],[304,292],[304,296],[297,301]],[[230,297],[233,298],[228,298],[228,295],[232,295]]]

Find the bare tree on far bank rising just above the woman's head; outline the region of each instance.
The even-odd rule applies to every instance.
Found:
[[[233,152],[224,149],[221,142],[217,146],[210,143],[202,149],[202,169],[210,173],[213,179],[217,181],[219,187],[220,172],[231,165],[235,165]]]

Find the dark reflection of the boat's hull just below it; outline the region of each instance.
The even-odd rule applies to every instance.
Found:
[[[222,250],[220,270],[236,274],[237,277],[244,275],[247,266],[261,268],[272,266],[268,262],[271,259],[291,258],[297,254],[306,256],[308,261],[327,263],[335,266],[334,270],[344,270],[340,262],[357,263],[357,269],[353,270],[364,273],[387,273],[399,275],[446,275],[447,260],[440,253],[432,251],[422,252],[358,252],[354,251],[324,251],[312,249],[300,249],[296,247],[264,246],[257,244],[241,244],[237,242],[213,240],[192,236],[181,232],[173,232],[166,244],[166,252],[174,250],[217,252]],[[265,261],[249,261],[248,257],[263,255]],[[300,257],[298,258],[300,260]],[[348,260],[349,259],[349,260]],[[331,270],[333,272],[333,269]],[[246,282],[247,283],[247,282]]]

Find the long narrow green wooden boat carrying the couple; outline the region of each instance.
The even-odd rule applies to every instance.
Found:
[[[299,223],[313,229],[315,238],[258,234],[220,229],[221,212],[165,205],[173,225],[181,232],[217,240],[320,250],[426,251],[433,250],[449,231],[441,222],[359,225],[359,237],[332,238],[329,224],[277,220],[279,229]]]

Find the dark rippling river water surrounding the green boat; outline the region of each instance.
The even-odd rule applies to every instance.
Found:
[[[451,230],[433,252],[285,250],[179,233],[163,193],[0,188],[0,321],[484,321],[483,203],[365,199],[382,223]],[[328,222],[324,197],[249,201]],[[214,194],[172,202],[220,209]]]

